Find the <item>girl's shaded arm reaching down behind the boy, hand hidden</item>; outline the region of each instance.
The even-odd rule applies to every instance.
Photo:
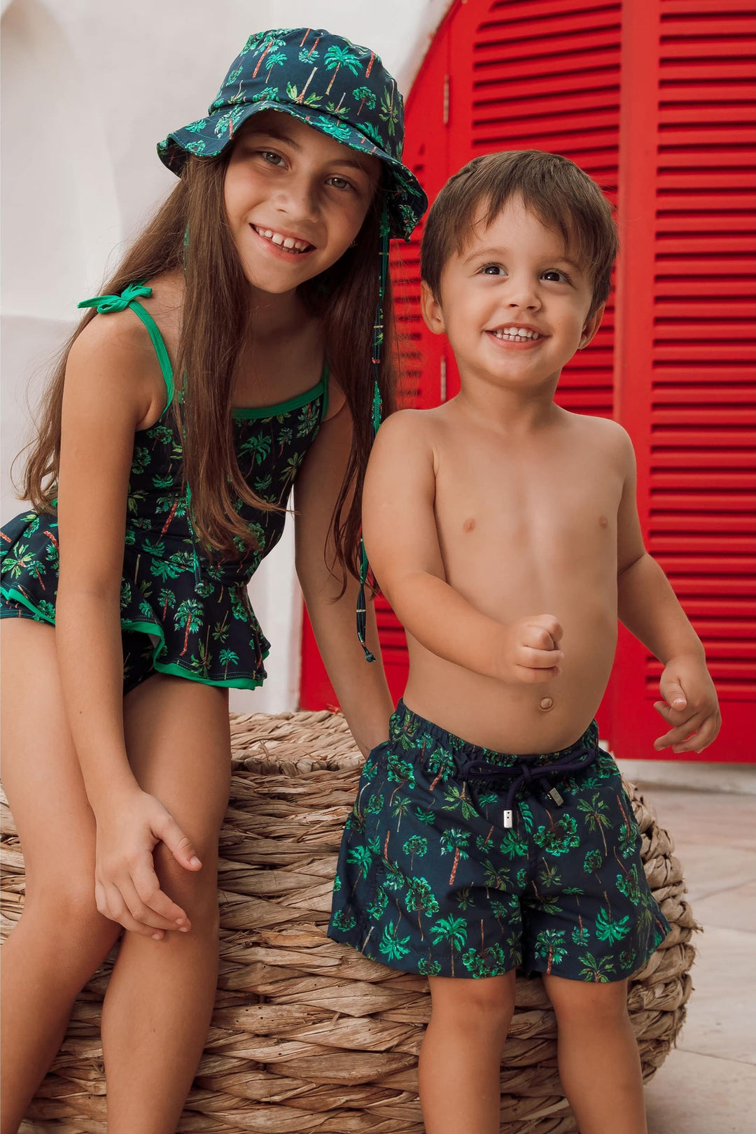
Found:
[[[338,598],[341,570],[330,531],[331,514],[352,445],[352,417],[344,403],[320,426],[294,482],[296,573],[318,649],[338,703],[360,750],[368,753],[386,739],[394,705],[386,685],[371,602],[367,642],[376,661],[368,663],[356,636],[359,584],[347,577]]]

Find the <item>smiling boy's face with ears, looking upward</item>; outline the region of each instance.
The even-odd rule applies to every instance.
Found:
[[[590,342],[604,312],[589,318],[593,279],[570,259],[558,231],[513,198],[452,256],[440,299],[426,284],[422,311],[450,340],[462,381],[534,390],[556,383],[562,366]]]

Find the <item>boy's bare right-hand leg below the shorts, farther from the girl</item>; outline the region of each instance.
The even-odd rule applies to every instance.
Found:
[[[560,1076],[580,1134],[647,1134],[628,982],[544,976],[558,1026]]]

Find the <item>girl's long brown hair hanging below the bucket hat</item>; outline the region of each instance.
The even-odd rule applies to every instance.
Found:
[[[234,508],[241,497],[261,510],[279,508],[244,481],[233,441],[235,366],[250,315],[250,285],[236,252],[224,203],[229,153],[191,155],[178,185],[124,255],[103,294],[184,269],[186,286],[176,357],[173,404],[184,442],[184,480],[192,491],[192,522],[200,542],[228,558],[255,540]],[[380,189],[355,246],[322,274],[302,285],[303,296],[324,322],[326,355],[344,390],[353,420],[348,465],[334,509],[331,531],[344,582],[359,574],[360,502],[372,443],[372,332],[378,303]],[[188,238],[187,238],[188,236]],[[68,353],[94,318],[89,310],[65,344],[44,395],[37,433],[22,480],[23,497],[36,511],[52,511],[60,462],[60,416]],[[395,364],[390,284],[384,297],[386,342],[378,384],[384,414],[394,408]],[[178,398],[180,387],[182,398]],[[235,543],[235,540],[237,541]]]

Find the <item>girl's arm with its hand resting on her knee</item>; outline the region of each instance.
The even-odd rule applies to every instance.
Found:
[[[120,579],[134,431],[157,416],[141,325],[95,319],[66,370],[58,480],[60,578],[56,645],[68,723],[98,826],[98,908],[127,929],[162,936],[187,923],[162,894],[151,852],[161,839],[190,870],[194,852],[166,809],[138,787],[123,719]],[[149,340],[148,340],[149,342]],[[153,363],[151,363],[153,365]]]

